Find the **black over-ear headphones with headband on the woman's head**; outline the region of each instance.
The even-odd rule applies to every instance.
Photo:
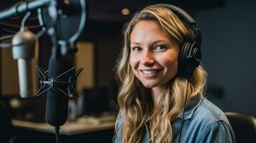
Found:
[[[194,21],[186,11],[177,6],[170,4],[156,4],[153,6],[161,6],[170,9],[193,29],[195,39],[193,41],[185,41],[181,46],[178,61],[178,75],[182,77],[190,77],[194,69],[199,66],[202,57],[200,49],[202,37],[200,29],[196,27],[196,21]]]

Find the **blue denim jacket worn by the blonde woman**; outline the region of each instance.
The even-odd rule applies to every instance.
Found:
[[[172,122],[174,131],[174,143],[179,142],[179,132],[183,114]],[[124,114],[120,114],[117,121],[117,128],[123,122]],[[149,129],[145,125],[143,143],[149,142]],[[121,134],[117,132],[114,142],[121,141]],[[194,98],[186,107],[181,133],[181,142],[201,143],[201,142],[235,142],[234,132],[227,117],[217,106],[203,97]]]

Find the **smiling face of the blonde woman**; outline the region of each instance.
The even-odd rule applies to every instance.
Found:
[[[179,45],[153,20],[139,21],[131,32],[130,65],[144,87],[161,87],[178,71]]]

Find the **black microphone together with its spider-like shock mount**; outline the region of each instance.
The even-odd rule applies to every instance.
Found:
[[[54,56],[49,59],[49,70],[36,66],[40,88],[37,97],[47,92],[46,121],[54,127],[60,127],[67,120],[69,97],[78,97],[75,82],[82,68],[75,71],[73,56]],[[72,68],[70,68],[72,67]]]

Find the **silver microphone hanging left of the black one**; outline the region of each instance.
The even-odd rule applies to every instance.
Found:
[[[14,45],[12,56],[18,62],[19,94],[22,98],[34,97],[37,90],[33,83],[36,41],[37,37],[26,27],[16,33],[11,40],[11,44]]]

